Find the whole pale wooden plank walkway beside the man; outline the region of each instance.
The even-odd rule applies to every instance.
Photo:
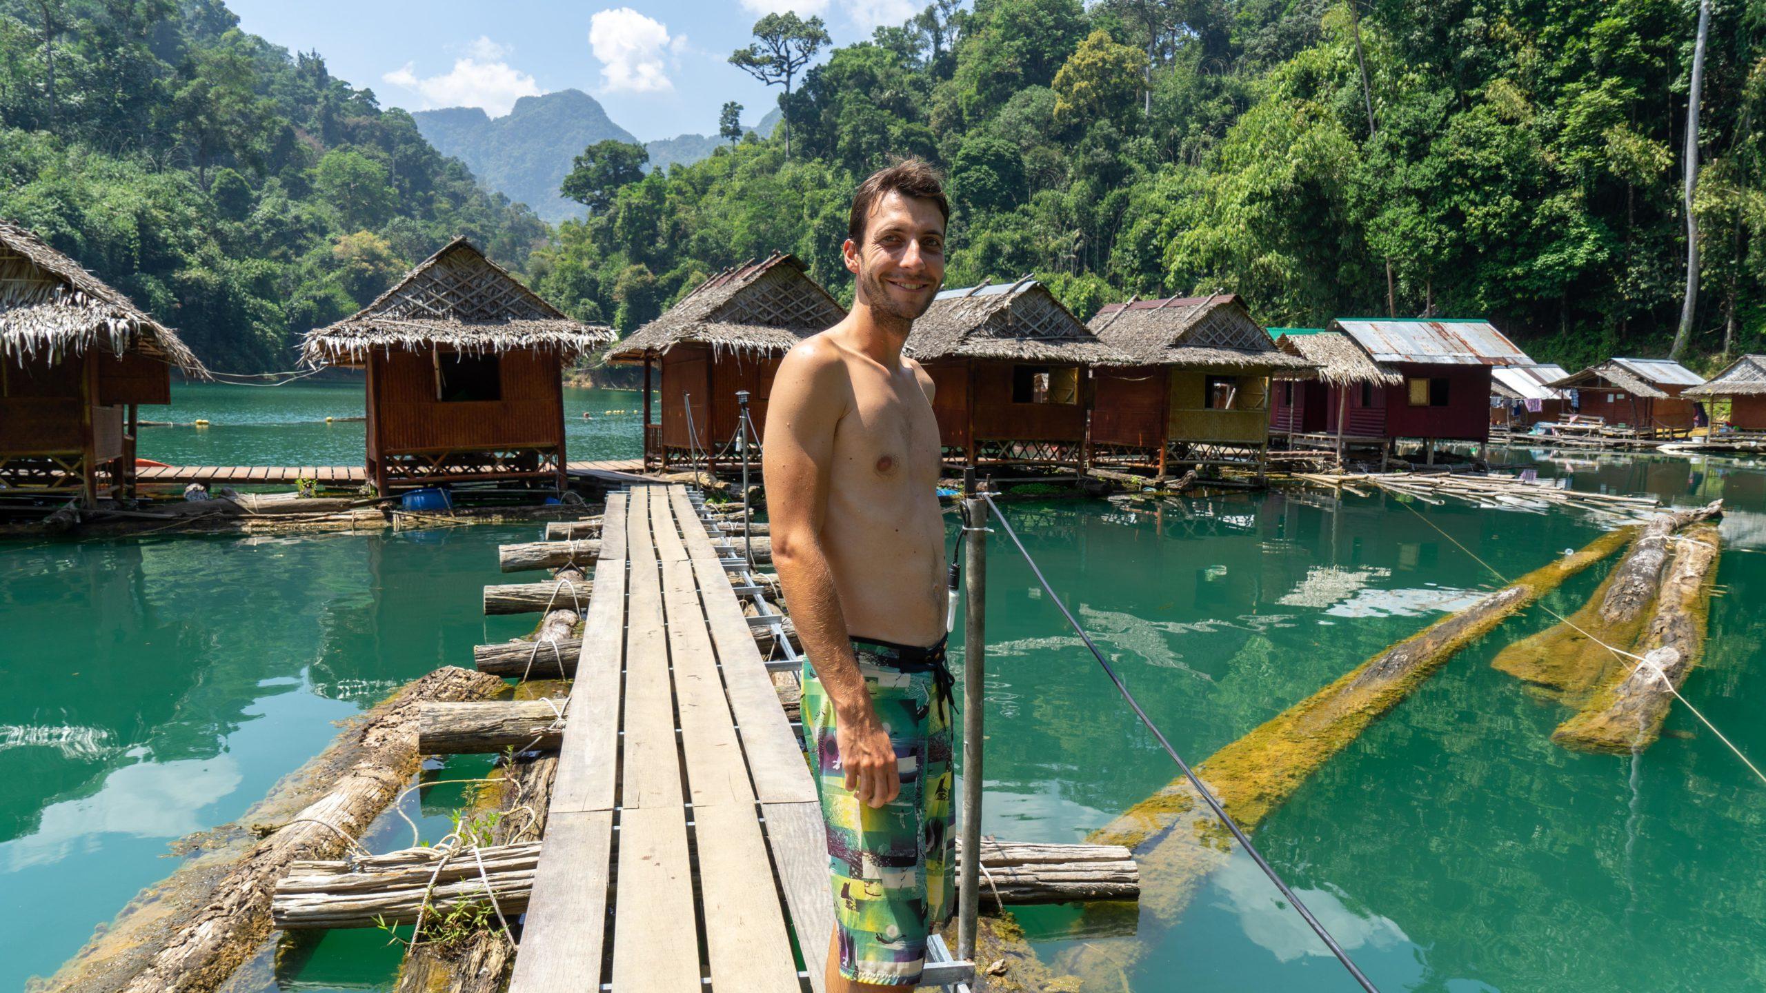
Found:
[[[834,928],[816,788],[680,486],[608,498],[512,993],[811,988]]]

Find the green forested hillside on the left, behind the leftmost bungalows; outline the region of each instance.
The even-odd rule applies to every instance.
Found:
[[[408,113],[219,0],[0,0],[0,216],[224,371],[291,368],[293,336],[454,235],[517,269],[547,237]]]

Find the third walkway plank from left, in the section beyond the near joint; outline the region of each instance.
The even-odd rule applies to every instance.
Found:
[[[749,786],[749,767],[742,758],[742,742],[729,716],[724,680],[717,675],[712,636],[705,629],[699,587],[691,564],[662,564],[662,601],[668,610],[675,705],[680,712],[682,753],[687,762],[694,818],[698,820],[698,811],[705,806],[735,804],[747,809],[752,820],[754,788]]]

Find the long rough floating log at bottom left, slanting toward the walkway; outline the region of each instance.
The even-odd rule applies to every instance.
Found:
[[[191,859],[143,891],[48,982],[44,993],[203,993],[219,988],[270,933],[270,892],[302,859],[343,853],[417,772],[424,701],[482,700],[502,689],[454,666],[408,684],[320,756],[277,783],[240,823],[267,838]],[[267,823],[265,823],[267,822]],[[244,836],[244,832],[240,832]]]

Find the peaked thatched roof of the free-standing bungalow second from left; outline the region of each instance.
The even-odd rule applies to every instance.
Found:
[[[300,359],[309,366],[344,366],[374,348],[438,345],[457,352],[544,348],[574,359],[613,337],[609,327],[567,318],[472,242],[454,239],[373,304],[309,330]]]

